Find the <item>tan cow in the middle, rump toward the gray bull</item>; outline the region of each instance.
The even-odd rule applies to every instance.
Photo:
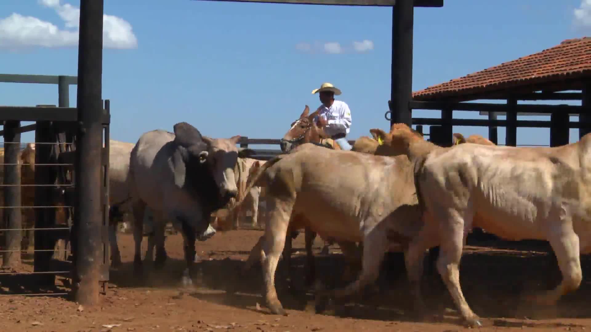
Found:
[[[304,144],[268,161],[248,184],[266,188],[269,220],[245,269],[261,258],[271,312],[285,314],[274,276],[288,227],[294,227],[292,214],[305,216],[299,220],[308,224],[302,226],[323,238],[334,237],[348,259],[355,258],[355,242],[364,243],[359,279],[333,294],[347,297],[375,281],[392,242],[401,243],[401,250],[420,230],[413,183],[413,168],[405,155],[382,157]]]

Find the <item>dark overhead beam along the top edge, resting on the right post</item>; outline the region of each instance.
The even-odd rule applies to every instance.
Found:
[[[396,0],[193,0],[262,2],[265,4],[339,5],[339,6],[394,6]],[[415,7],[443,7],[443,0],[414,0]]]

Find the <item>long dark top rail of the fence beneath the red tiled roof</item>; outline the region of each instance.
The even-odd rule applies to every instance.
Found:
[[[485,111],[485,112],[505,112],[506,104],[492,104],[492,103],[447,103],[447,102],[410,102],[411,109],[434,109],[441,110],[451,108],[453,110],[470,110],[470,111]],[[572,105],[533,105],[533,104],[518,104],[515,109],[522,113],[546,113],[552,112],[582,112],[581,106]],[[413,122],[414,123],[414,122]]]

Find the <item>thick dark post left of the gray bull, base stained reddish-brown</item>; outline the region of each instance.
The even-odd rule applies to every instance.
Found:
[[[99,302],[102,261],[102,209],[100,191],[102,148],[103,0],[80,0],[77,107],[80,121],[76,141],[74,222],[78,237],[76,300]]]

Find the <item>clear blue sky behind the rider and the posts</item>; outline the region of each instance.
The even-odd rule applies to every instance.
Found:
[[[446,0],[443,8],[415,8],[413,90],[589,34],[591,4],[582,7],[579,18],[574,14],[581,1]],[[72,36],[77,35],[78,7],[78,1],[69,0],[2,0],[0,73],[75,76]],[[371,128],[388,129],[391,12],[382,7],[105,0],[105,14],[116,17],[108,21],[111,37],[103,51],[111,138],[135,142],[146,131],[171,130],[180,121],[214,137],[281,138],[304,105],[319,106],[310,92],[323,82],[343,91],[338,99],[352,110],[350,139],[369,135]],[[39,28],[20,33],[19,24],[25,23]],[[360,51],[353,41],[362,42]],[[341,53],[323,51],[338,51],[334,43]],[[57,86],[0,86],[2,105],[57,104]],[[76,86],[70,88],[70,105],[76,105]],[[437,117],[439,111],[413,114]],[[458,111],[454,116],[483,118]],[[478,127],[456,126],[454,132],[488,135]],[[500,144],[504,136],[499,128]],[[570,136],[576,141],[578,130],[571,129]],[[33,141],[33,133],[22,140]],[[517,141],[548,144],[549,129],[518,129]]]

